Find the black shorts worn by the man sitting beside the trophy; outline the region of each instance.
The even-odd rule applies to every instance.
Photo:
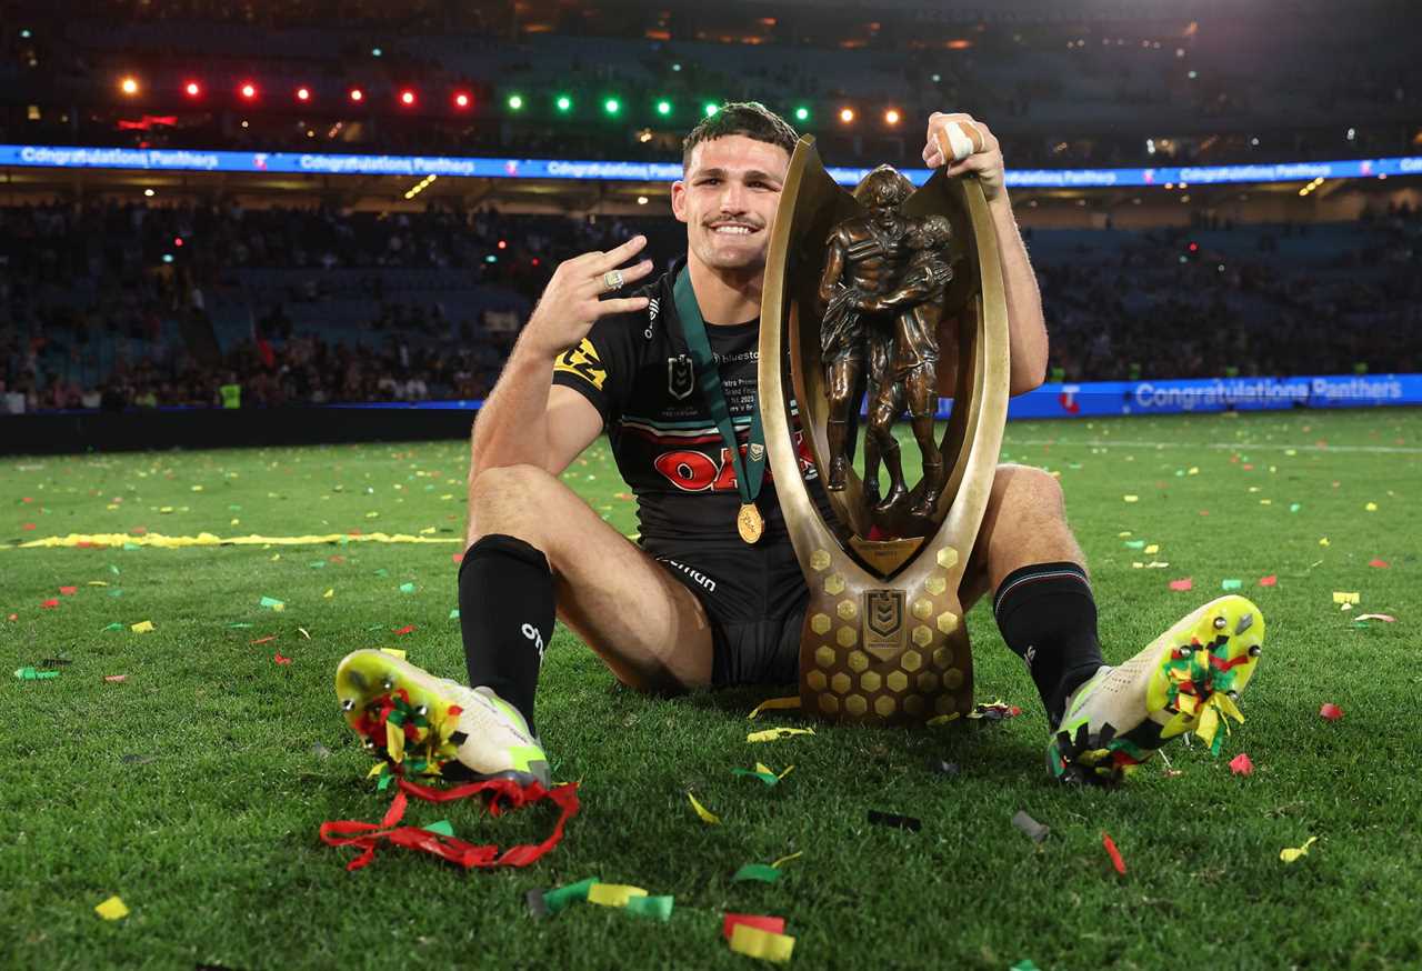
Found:
[[[788,539],[653,556],[705,607],[714,648],[711,684],[799,681],[809,589]]]

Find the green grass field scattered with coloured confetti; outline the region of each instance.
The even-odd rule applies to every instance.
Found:
[[[398,849],[347,873],[353,852],[317,840],[323,820],[377,822],[390,802],[338,717],[337,661],[400,647],[462,677],[462,442],[0,459],[0,967],[751,967],[721,938],[725,911],[786,917],[792,965],[812,968],[1422,965],[1422,412],[1024,422],[1004,452],[1061,473],[1108,661],[1224,580],[1261,607],[1247,722],[1221,758],[1176,742],[1177,775],[1156,759],[1118,790],[1058,788],[1032,685],[983,604],[978,697],[1022,717],[768,745],[747,731],[802,722],[745,717],[785,691],[640,697],[559,628],[539,724],[583,810],[543,862],[471,873]],[[567,481],[634,532],[604,444]],[[21,547],[141,530],[441,542]],[[1169,566],[1135,566],[1150,562]],[[1169,589],[1183,577],[1192,591]],[[1361,603],[1342,611],[1334,591]],[[1355,624],[1364,613],[1396,621]],[[151,633],[129,628],[145,620]],[[71,662],[9,674],[46,658]],[[1240,752],[1251,776],[1230,772]],[[795,771],[774,789],[731,773],[757,761]],[[870,825],[870,809],[923,829]],[[1045,842],[1012,827],[1020,809],[1051,826]],[[417,803],[407,819],[509,844],[542,839],[553,810]],[[798,852],[778,883],[731,880]],[[529,889],[587,876],[673,894],[675,911],[528,916]],[[128,917],[95,916],[111,894]]]

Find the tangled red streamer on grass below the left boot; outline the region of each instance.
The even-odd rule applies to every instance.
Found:
[[[408,796],[424,799],[425,802],[455,802],[474,795],[486,795],[489,815],[498,817],[509,809],[518,809],[529,803],[547,799],[563,812],[553,825],[553,832],[542,843],[522,843],[510,846],[503,853],[495,844],[478,846],[466,843],[454,836],[441,836],[418,826],[397,826],[405,816]],[[503,802],[501,802],[503,800]],[[408,779],[400,779],[400,792],[385,810],[385,816],[375,823],[363,823],[357,819],[346,819],[321,823],[321,842],[328,846],[357,846],[363,850],[360,856],[346,864],[347,870],[360,870],[375,859],[375,847],[381,842],[392,846],[404,846],[410,850],[419,850],[438,856],[441,860],[455,863],[465,870],[498,866],[525,867],[545,853],[552,850],[563,839],[563,826],[577,815],[577,783],[569,782],[553,789],[545,789],[540,782],[530,782],[520,786],[513,779],[485,779],[455,786],[454,789],[429,789]]]

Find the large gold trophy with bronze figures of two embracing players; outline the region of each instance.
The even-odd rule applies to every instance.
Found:
[[[882,165],[848,192],[802,138],[771,236],[759,363],[771,471],[811,591],[802,711],[865,722],[971,711],[958,586],[1007,395],[1007,301],[981,186],[940,169],[914,189]],[[941,436],[940,397],[953,398]],[[799,475],[791,401],[832,517]],[[917,482],[894,435],[903,418]]]

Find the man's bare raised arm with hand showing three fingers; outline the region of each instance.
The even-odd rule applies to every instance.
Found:
[[[607,314],[647,307],[646,297],[602,300],[603,273],[631,259],[647,243],[636,236],[607,253],[584,253],[555,270],[543,297],[519,334],[509,361],[474,422],[469,482],[485,469],[535,465],[557,475],[602,431],[602,415],[570,388],[553,388],[553,363]],[[623,270],[633,283],[651,273],[651,260]]]

